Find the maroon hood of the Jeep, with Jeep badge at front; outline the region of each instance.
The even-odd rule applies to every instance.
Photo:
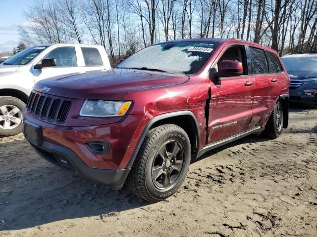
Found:
[[[135,90],[181,84],[188,79],[183,74],[110,69],[40,80],[34,89],[69,98],[119,100]]]

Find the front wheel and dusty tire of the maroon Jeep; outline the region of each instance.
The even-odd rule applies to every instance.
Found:
[[[190,160],[190,140],[181,127],[175,124],[155,127],[147,133],[127,178],[127,186],[148,202],[163,200],[179,189]]]

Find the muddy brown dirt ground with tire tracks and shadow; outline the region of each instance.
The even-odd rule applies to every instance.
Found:
[[[206,154],[151,205],[55,167],[21,134],[0,138],[0,236],[317,237],[317,110],[292,109],[278,139]]]

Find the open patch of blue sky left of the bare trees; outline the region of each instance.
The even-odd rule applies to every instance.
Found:
[[[27,24],[23,10],[33,3],[34,0],[0,0],[0,52],[17,46],[18,26]]]

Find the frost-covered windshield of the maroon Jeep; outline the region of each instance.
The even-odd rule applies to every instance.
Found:
[[[116,68],[192,74],[203,67],[217,46],[214,42],[160,43],[133,54]]]

